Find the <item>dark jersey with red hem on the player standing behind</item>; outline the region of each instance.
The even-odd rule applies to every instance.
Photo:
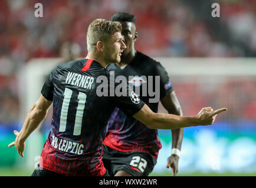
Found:
[[[165,68],[141,52],[137,51],[133,61],[125,68],[121,69],[116,63],[112,63],[107,66],[107,70],[113,71],[116,78],[120,75],[125,76],[127,84],[131,83],[135,92],[136,89],[139,89],[139,93],[136,93],[140,94],[140,99],[155,113],[158,110],[160,99],[173,92]],[[132,75],[131,78],[130,75]],[[159,77],[158,83],[156,82],[157,76]],[[143,84],[147,86],[145,90],[143,90]],[[155,96],[149,93],[150,85],[152,86],[151,90],[155,91]],[[157,92],[159,93],[158,100],[150,102],[150,99],[156,98]],[[155,158],[162,147],[157,129],[149,129],[134,117],[127,116],[119,108],[114,110],[109,119],[103,144],[120,152],[147,152]]]

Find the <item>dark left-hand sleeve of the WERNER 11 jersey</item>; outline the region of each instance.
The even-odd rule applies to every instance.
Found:
[[[47,80],[45,81],[44,85],[42,86],[41,94],[47,100],[53,100],[53,90],[54,85],[52,83],[52,79],[54,78],[55,73],[57,72],[57,68],[52,70],[50,75],[48,76]]]

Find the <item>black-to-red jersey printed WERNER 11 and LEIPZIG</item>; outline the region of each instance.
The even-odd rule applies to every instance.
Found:
[[[128,85],[124,96],[109,95],[110,89],[109,72],[93,59],[62,63],[52,70],[41,90],[53,109],[41,167],[65,176],[104,175],[102,142],[111,113],[117,106],[133,116],[145,104]]]

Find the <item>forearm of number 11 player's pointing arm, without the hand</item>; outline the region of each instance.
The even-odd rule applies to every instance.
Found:
[[[151,129],[179,129],[198,125],[196,116],[177,116],[166,113],[155,113],[150,123]]]

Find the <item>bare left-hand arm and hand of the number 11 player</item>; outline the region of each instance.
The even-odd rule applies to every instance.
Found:
[[[17,130],[14,130],[14,134],[17,137],[14,142],[8,145],[8,147],[15,146],[19,155],[23,157],[25,140],[35,129],[37,129],[42,120],[45,119],[51,105],[52,101],[45,99],[44,96],[41,95],[37,102],[34,103],[31,110],[29,110],[21,131],[18,132]]]

